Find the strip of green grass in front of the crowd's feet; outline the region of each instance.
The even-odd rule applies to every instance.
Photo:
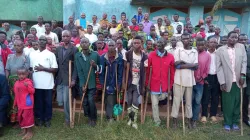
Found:
[[[76,114],[78,116],[78,114]],[[83,115],[82,115],[83,116]],[[162,118],[163,120],[164,118]],[[165,120],[165,119],[164,119]],[[100,121],[95,128],[87,125],[87,119],[82,118],[80,124],[70,129],[63,125],[64,117],[62,112],[54,112],[51,128],[35,127],[33,140],[250,140],[250,128],[244,125],[244,136],[240,132],[225,132],[222,122],[218,124],[207,123],[198,124],[194,130],[186,129],[186,135],[183,136],[182,128],[177,130],[167,129],[163,121],[161,127],[155,127],[150,117],[145,124],[140,125],[135,130],[126,125],[126,121],[114,122],[108,124],[105,121],[101,126]],[[181,121],[179,121],[181,126]],[[20,140],[17,136],[20,129],[7,127],[2,140]]]

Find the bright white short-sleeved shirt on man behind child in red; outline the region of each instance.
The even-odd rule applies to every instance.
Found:
[[[58,68],[56,56],[47,49],[34,51],[30,54],[30,67],[35,68],[39,64],[45,68]],[[53,89],[54,76],[52,73],[45,71],[35,71],[33,73],[34,87],[36,89]]]

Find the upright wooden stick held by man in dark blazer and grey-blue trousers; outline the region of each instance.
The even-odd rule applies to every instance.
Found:
[[[72,69],[72,61],[69,61],[69,83],[71,82],[71,71]],[[73,128],[73,119],[72,119],[72,88],[69,87],[69,120],[70,120],[70,128]]]

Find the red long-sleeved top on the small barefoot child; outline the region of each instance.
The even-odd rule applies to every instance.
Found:
[[[24,83],[27,83],[28,86],[25,86]],[[34,107],[34,93],[35,89],[33,86],[32,80],[26,78],[24,80],[16,81],[14,85],[14,93],[15,93],[15,100],[14,105],[18,107],[18,109],[32,109]],[[30,99],[32,104],[27,106],[27,96],[30,95]]]

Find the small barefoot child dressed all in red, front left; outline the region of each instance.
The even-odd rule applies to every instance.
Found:
[[[34,93],[35,89],[32,80],[28,79],[28,70],[21,67],[17,70],[18,81],[14,85],[14,105],[18,108],[18,122],[23,132],[22,139],[31,139],[33,136],[32,127],[34,126]]]

